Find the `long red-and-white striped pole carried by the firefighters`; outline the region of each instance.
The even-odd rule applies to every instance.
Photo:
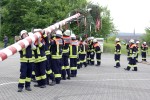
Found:
[[[80,13],[77,13],[71,17],[68,17],[58,23],[55,23],[47,28],[45,28],[46,33],[51,33],[53,30],[58,29],[59,26],[65,25],[68,21],[71,21],[72,19],[78,18],[80,16]],[[22,50],[23,48],[26,48],[29,46],[33,41],[36,41],[39,37],[41,37],[41,34],[39,32],[36,32],[32,36],[28,36],[23,40],[20,40],[10,46],[8,46],[5,49],[0,50],[0,61],[3,61],[7,59],[9,56],[14,55],[18,51]]]

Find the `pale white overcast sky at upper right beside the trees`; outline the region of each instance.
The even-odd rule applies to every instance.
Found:
[[[150,0],[89,0],[107,6],[120,32],[145,33],[150,26]]]

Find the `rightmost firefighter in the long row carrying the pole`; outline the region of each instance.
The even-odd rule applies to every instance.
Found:
[[[97,42],[97,39],[93,40],[93,46],[94,46],[94,50],[96,53],[96,60],[97,60],[96,66],[100,66],[101,65],[101,48],[100,48],[99,43]]]

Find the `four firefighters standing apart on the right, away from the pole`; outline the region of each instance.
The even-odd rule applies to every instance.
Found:
[[[115,39],[115,61],[116,65],[114,67],[119,68],[120,67],[120,55],[121,55],[121,44],[119,38]],[[138,55],[140,53],[140,42],[135,41],[131,39],[128,44],[126,44],[127,49],[127,60],[129,61],[127,68],[124,68],[125,70],[129,71],[131,67],[133,68],[132,71],[137,71],[137,62],[138,62]],[[146,62],[146,54],[148,52],[148,45],[146,42],[143,42],[141,45],[141,56],[142,61]]]

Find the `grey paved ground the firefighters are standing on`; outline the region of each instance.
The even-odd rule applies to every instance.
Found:
[[[150,66],[138,64],[138,72],[124,71],[126,56],[121,56],[121,68],[114,68],[114,64],[112,54],[103,54],[100,67],[82,68],[76,78],[45,89],[35,88],[32,83],[32,92],[18,93],[16,54],[0,62],[0,100],[150,100]]]

